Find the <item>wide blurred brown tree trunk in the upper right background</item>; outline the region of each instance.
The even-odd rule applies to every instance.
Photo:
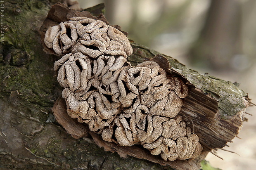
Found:
[[[230,60],[242,53],[242,11],[238,0],[212,0],[190,61],[199,67],[230,69]]]

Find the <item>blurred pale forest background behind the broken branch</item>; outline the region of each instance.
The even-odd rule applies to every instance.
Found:
[[[110,24],[128,38],[178,59],[200,73],[238,82],[256,103],[255,0],[78,0],[84,9],[105,3]],[[206,157],[223,170],[256,167],[256,107],[247,109],[248,122],[235,138],[230,153]]]

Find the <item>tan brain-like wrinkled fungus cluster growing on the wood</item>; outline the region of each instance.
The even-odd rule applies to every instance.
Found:
[[[153,61],[136,67],[126,60],[126,36],[103,21],[76,17],[47,29],[45,45],[62,58],[55,62],[68,114],[108,142],[140,144],[167,161],[197,157],[199,137],[178,112],[188,89],[166,77]]]

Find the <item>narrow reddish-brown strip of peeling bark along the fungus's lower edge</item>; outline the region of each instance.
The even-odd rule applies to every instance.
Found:
[[[58,109],[56,109],[56,107]],[[154,163],[159,163],[160,165],[169,165],[174,169],[181,169],[185,170],[188,167],[190,167],[190,170],[197,170],[200,167],[200,162],[205,158],[207,155],[208,151],[203,151],[201,155],[198,158],[195,159],[190,159],[189,161],[181,161],[181,160],[176,160],[176,161],[164,161],[160,156],[154,156],[150,154],[150,152],[139,146],[139,145],[134,145],[134,146],[119,146],[113,142],[106,142],[102,139],[102,137],[98,134],[95,134],[94,132],[90,132],[88,126],[83,123],[83,124],[77,124],[77,121],[75,119],[69,120],[68,124],[75,124],[75,126],[72,127],[67,127],[66,126],[66,103],[65,100],[60,97],[57,99],[55,102],[55,107],[53,108],[53,113],[56,117],[56,120],[59,122],[60,125],[62,125],[67,132],[70,135],[74,135],[77,133],[73,132],[76,128],[80,130],[81,128],[83,129],[83,132],[86,133],[88,132],[94,142],[100,146],[103,147],[105,151],[111,151],[111,152],[117,152],[119,156],[126,158],[127,156],[134,156],[136,158],[140,159],[146,159],[148,161],[154,162]],[[64,117],[64,118],[63,118]],[[82,136],[81,136],[82,137]],[[83,136],[84,137],[84,136]]]

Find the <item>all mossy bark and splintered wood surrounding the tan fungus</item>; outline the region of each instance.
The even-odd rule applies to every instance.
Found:
[[[64,103],[57,100],[62,88],[53,70],[58,57],[46,54],[40,43],[39,29],[50,9],[49,4],[36,0],[12,0],[4,2],[3,7],[5,17],[1,25],[6,29],[3,29],[5,33],[0,45],[1,169],[160,170],[168,165],[164,168],[196,170],[208,151],[227,145],[239,132],[244,110],[249,105],[242,90],[231,82],[199,74],[171,57],[131,42],[133,54],[128,57],[131,64],[152,60],[169,74],[187,82],[190,92],[179,114],[199,136],[204,146],[201,156],[188,161],[160,161],[138,146],[104,144],[97,135],[90,132],[88,135],[86,126],[77,122],[74,122],[76,132],[69,131],[72,136],[69,135],[60,124],[64,127],[71,124],[63,122],[63,118],[60,124],[55,121],[55,116],[60,120],[58,114],[63,117],[65,112]],[[66,10],[68,15],[64,19],[74,16],[73,11]],[[102,8],[97,6],[90,11],[97,16]],[[55,15],[63,19],[60,13]],[[79,137],[82,138],[75,139]],[[128,157],[105,152],[95,143]]]

